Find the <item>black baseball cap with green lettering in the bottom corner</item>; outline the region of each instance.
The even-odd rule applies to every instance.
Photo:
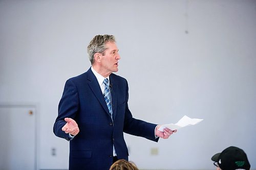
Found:
[[[218,162],[222,170],[250,169],[250,163],[246,153],[237,147],[228,147],[221,153],[211,157],[212,161]]]

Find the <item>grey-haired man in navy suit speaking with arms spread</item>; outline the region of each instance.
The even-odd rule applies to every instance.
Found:
[[[70,141],[70,170],[107,170],[118,159],[128,160],[123,132],[156,142],[176,132],[133,117],[127,81],[112,73],[120,59],[113,35],[95,36],[88,54],[92,66],[67,80],[53,128]]]

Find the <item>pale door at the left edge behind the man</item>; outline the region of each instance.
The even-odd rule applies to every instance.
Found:
[[[0,170],[36,169],[35,106],[0,105]]]

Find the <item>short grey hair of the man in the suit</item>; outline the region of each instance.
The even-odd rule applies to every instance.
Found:
[[[114,35],[96,35],[89,45],[87,46],[87,52],[91,64],[94,63],[94,54],[95,53],[104,53],[107,42],[116,42]]]

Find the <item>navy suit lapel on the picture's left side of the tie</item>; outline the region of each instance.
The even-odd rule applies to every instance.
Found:
[[[98,83],[96,77],[94,76],[91,68],[87,72],[88,72],[87,79],[89,80],[88,84],[89,84],[90,88],[92,89],[94,95],[98,99],[101,106],[104,108],[106,113],[108,113],[108,115],[110,116],[108,106],[106,106],[106,102],[104,100],[103,94],[101,92],[101,89],[100,89],[100,86],[99,86],[99,83]]]

